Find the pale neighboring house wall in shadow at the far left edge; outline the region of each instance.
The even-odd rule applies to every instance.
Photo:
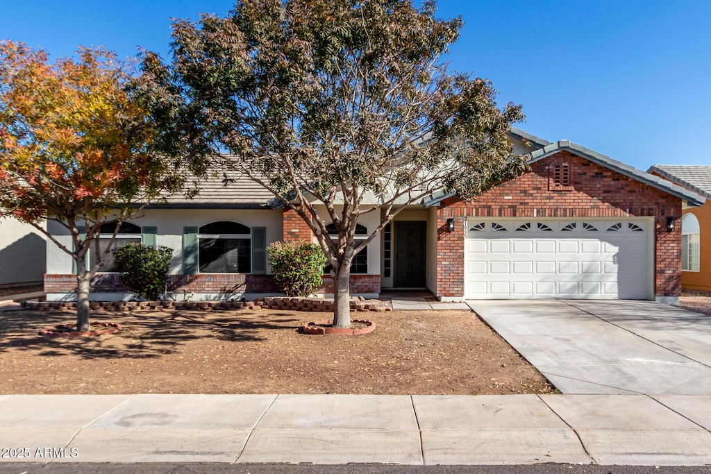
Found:
[[[47,244],[34,227],[0,217],[0,287],[41,284]]]

